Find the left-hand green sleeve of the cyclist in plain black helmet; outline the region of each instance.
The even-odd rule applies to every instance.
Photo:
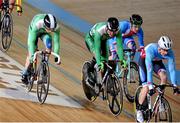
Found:
[[[98,65],[101,64],[101,35],[96,33],[94,35],[94,47],[95,47],[95,57]]]

